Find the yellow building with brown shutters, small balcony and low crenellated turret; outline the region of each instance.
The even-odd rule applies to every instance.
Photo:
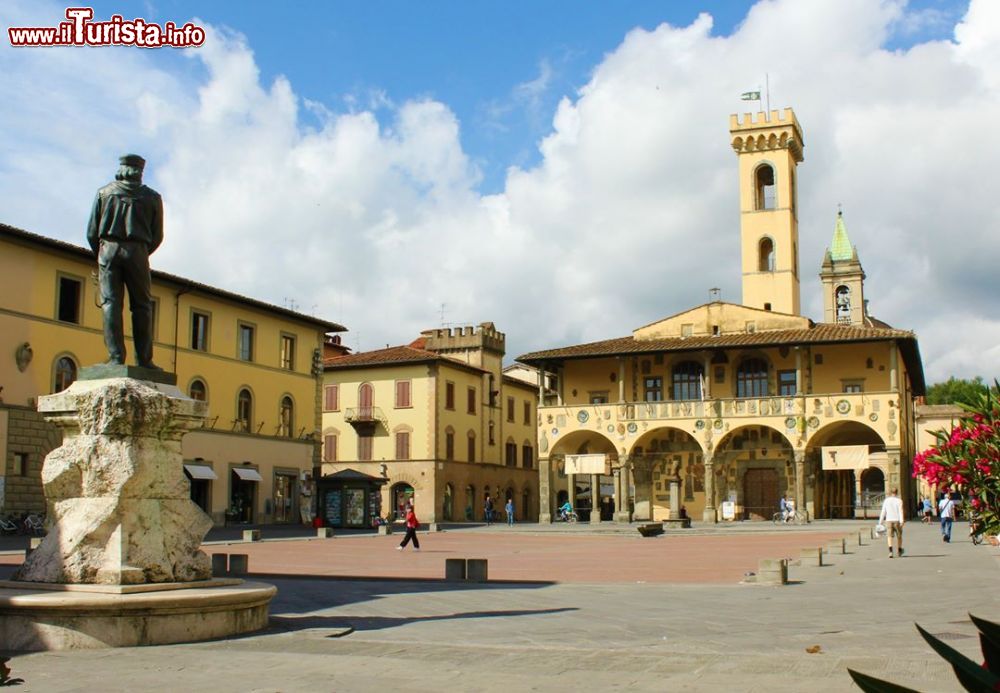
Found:
[[[536,520],[537,396],[503,374],[504,349],[504,334],[483,323],[327,359],[324,520],[367,526],[373,514],[398,517],[412,499],[422,522],[482,521],[486,494],[501,514],[510,498],[517,520]],[[325,490],[325,478],[348,470],[382,480],[380,496]]]

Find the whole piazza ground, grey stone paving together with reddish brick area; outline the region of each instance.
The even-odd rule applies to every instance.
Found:
[[[11,665],[24,691],[857,690],[848,666],[958,690],[913,623],[979,659],[966,613],[1000,620],[1000,554],[973,546],[964,524],[943,544],[935,526],[908,523],[902,560],[866,539],[830,566],[792,565],[793,584],[741,584],[758,558],[797,557],[870,524],[654,539],[501,526],[422,533],[419,553],[396,551],[399,536],[211,545],[249,554],[278,585],[268,631]],[[489,559],[497,582],[429,579],[457,556]]]

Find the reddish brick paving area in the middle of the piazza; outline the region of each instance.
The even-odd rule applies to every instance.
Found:
[[[350,536],[206,546],[208,553],[245,553],[250,571],[323,577],[442,578],[446,558],[485,558],[495,580],[560,583],[726,584],[755,571],[760,558],[798,558],[845,531],[719,536],[679,534],[579,536],[493,531],[421,532],[419,552],[397,551],[401,535]]]

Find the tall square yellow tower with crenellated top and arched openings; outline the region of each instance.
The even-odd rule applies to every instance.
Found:
[[[743,305],[798,315],[796,168],[802,130],[791,108],[729,117],[740,170]]]

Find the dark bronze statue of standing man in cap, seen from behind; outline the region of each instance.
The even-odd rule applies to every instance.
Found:
[[[149,256],[163,242],[163,200],[142,184],[146,160],[137,154],[119,159],[115,180],[97,191],[87,225],[87,241],[97,256],[104,310],[104,343],[108,363],[125,363],[122,310],[128,289],[136,364],[153,363],[153,315]]]

